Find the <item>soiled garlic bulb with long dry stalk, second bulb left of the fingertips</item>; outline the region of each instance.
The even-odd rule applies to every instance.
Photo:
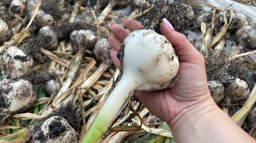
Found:
[[[87,45],[92,45],[95,44],[97,37],[93,34],[91,30],[79,30],[79,31],[73,31],[70,34],[70,39],[72,40],[72,43],[74,43],[74,46],[78,48],[78,51],[83,51],[85,50],[85,47]],[[78,54],[70,66],[70,69],[66,75],[66,80],[56,95],[56,98],[54,99],[53,103],[55,103],[60,96],[69,88],[75,73],[77,72],[77,69],[79,68],[81,58],[83,56],[83,53]]]

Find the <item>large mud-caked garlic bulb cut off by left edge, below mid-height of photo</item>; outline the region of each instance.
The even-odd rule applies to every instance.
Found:
[[[22,112],[37,101],[33,85],[24,79],[2,79],[0,81],[0,107],[11,112]],[[4,118],[6,119],[6,118]],[[4,119],[0,123],[4,122]]]

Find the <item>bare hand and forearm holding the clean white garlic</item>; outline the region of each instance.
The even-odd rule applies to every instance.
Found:
[[[124,20],[130,31],[141,29],[133,19]],[[168,26],[167,26],[168,25]],[[176,86],[160,91],[135,91],[135,95],[153,114],[170,127],[176,143],[256,143],[214,103],[208,90],[204,58],[170,24],[161,23],[161,33],[179,55],[181,78]],[[117,24],[110,26],[111,57],[119,68],[118,50],[128,32]]]

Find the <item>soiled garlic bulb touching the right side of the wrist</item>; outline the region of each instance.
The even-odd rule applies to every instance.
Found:
[[[208,88],[214,102],[218,104],[224,97],[224,85],[217,80],[208,81]]]

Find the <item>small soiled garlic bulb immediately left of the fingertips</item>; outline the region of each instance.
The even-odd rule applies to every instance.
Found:
[[[94,46],[93,53],[96,56],[96,60],[98,60],[100,63],[107,60],[111,60],[111,56],[109,51],[112,49],[112,46],[110,45],[108,39],[101,38],[97,41],[97,43]]]

